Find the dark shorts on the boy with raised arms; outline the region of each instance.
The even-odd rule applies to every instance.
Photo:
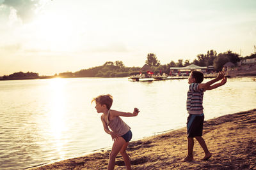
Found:
[[[187,122],[188,138],[195,138],[195,136],[202,136],[203,125],[204,125],[204,113],[202,113],[201,115],[189,114],[188,122]]]

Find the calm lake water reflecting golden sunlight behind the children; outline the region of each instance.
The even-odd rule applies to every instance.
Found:
[[[187,91],[188,80],[0,81],[0,169],[25,169],[110,147],[101,114],[90,103],[100,94],[113,96],[113,110],[140,109],[138,117],[123,117],[132,140],[185,127]],[[205,92],[204,108],[205,120],[256,108],[256,81],[229,78],[225,86]]]

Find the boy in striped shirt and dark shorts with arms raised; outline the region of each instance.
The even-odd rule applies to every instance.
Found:
[[[193,160],[194,138],[198,141],[205,152],[202,160],[211,158],[212,153],[209,152],[204,139],[202,138],[204,124],[204,108],[203,96],[205,90],[212,90],[225,85],[227,78],[225,72],[221,71],[216,78],[207,83],[202,83],[204,74],[200,71],[191,71],[188,78],[189,90],[187,98],[187,110],[189,113],[187,122],[187,137],[188,137],[188,155],[183,159],[184,162]],[[220,81],[220,83],[216,83]],[[215,83],[215,84],[214,84]]]

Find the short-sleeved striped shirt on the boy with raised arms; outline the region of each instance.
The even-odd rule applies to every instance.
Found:
[[[204,89],[198,89],[199,83],[191,83],[188,90],[187,110],[189,114],[200,115],[204,113]]]

